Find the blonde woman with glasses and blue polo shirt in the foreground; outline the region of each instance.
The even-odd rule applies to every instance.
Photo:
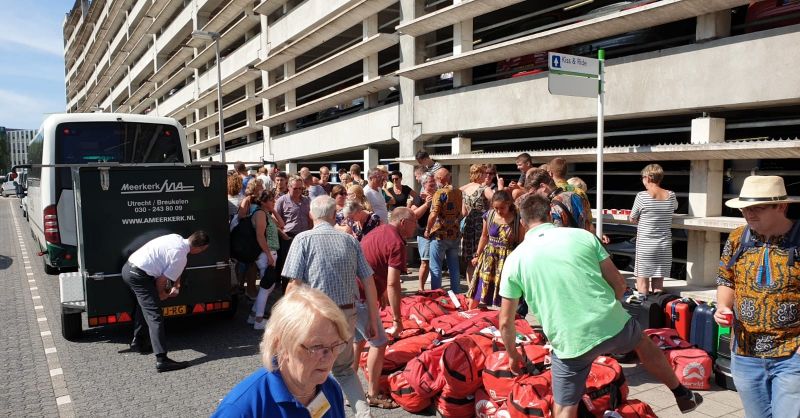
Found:
[[[236,385],[213,417],[344,418],[330,375],[350,327],[324,293],[301,286],[281,298],[261,341],[264,367]]]

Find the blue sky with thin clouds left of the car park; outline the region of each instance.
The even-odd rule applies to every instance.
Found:
[[[38,129],[64,112],[61,25],[75,0],[0,0],[0,126]]]

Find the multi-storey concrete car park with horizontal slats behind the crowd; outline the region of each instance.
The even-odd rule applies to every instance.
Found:
[[[735,225],[714,219],[737,215],[722,201],[743,177],[800,184],[798,13],[748,0],[77,0],[67,111],[174,117],[195,159],[218,159],[222,108],[227,161],[400,162],[412,179],[425,149],[463,184],[472,163],[510,178],[527,151],[565,157],[594,189],[596,101],[551,95],[547,52],[602,48],[604,207],[630,207],[638,170],[661,162],[697,219],[679,226],[686,275],[710,283]],[[215,44],[198,30],[220,34],[222,105]]]

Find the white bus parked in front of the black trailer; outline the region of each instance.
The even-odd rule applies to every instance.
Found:
[[[78,265],[72,174],[55,165],[190,162],[175,119],[124,113],[51,115],[31,141],[28,160],[28,219],[48,274]]]

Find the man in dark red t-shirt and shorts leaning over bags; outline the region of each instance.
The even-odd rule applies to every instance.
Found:
[[[406,239],[416,235],[417,221],[414,212],[409,208],[399,207],[392,211],[389,223],[381,225],[361,239],[361,250],[367,259],[374,273],[375,290],[378,293],[378,300],[385,300],[388,296],[389,306],[392,308],[394,318],[394,335],[403,331],[403,323],[400,318],[400,273],[406,269]],[[365,300],[363,290],[361,300]],[[364,315],[361,313],[364,312]],[[380,318],[377,319],[376,335],[367,339],[366,329],[369,321],[367,307],[362,302],[357,307],[358,323],[356,324],[356,336],[354,349],[356,352],[356,362],[354,367],[358,367],[358,360],[364,344],[369,341],[369,354],[367,356],[367,370],[369,373],[369,389],[367,391],[367,401],[370,406],[379,408],[397,407],[391,398],[381,395],[378,390],[381,369],[383,365],[383,355],[386,351],[386,332],[383,329]]]

